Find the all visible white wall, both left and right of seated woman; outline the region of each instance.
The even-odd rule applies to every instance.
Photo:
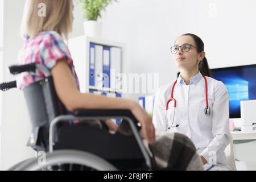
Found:
[[[15,63],[22,46],[18,29],[23,4],[24,0],[6,1],[5,67]],[[159,73],[159,85],[164,85],[177,72],[170,47],[187,32],[203,39],[210,68],[255,64],[254,7],[253,0],[119,0],[102,14],[102,38],[127,44],[125,72]],[[73,37],[84,34],[80,7],[74,13]],[[7,72],[3,78],[13,80]],[[26,147],[30,125],[22,93],[4,93],[3,106],[0,169],[34,155]]]

